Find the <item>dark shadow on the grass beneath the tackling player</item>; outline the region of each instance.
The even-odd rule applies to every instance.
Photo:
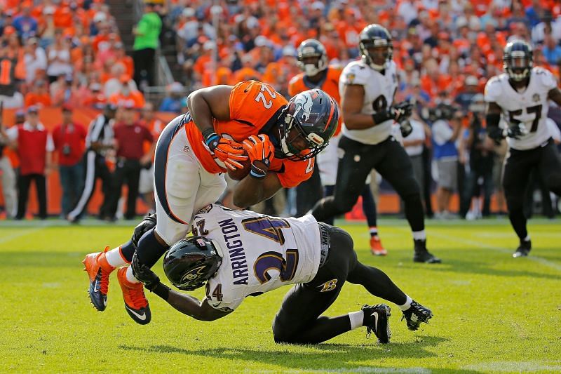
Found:
[[[208,349],[189,349],[185,347],[173,347],[170,345],[151,345],[149,347],[136,347],[132,345],[119,345],[125,350],[161,353],[161,354],[185,354],[187,356],[212,356],[218,359],[240,360],[261,362],[283,366],[284,368],[315,370],[321,369],[340,369],[342,367],[353,370],[364,368],[367,361],[372,359],[391,359],[391,358],[430,358],[437,356],[430,352],[428,347],[434,347],[447,338],[435,336],[423,336],[411,343],[391,343],[390,345],[379,345],[376,340],[365,345],[346,345],[346,344],[320,344],[306,345],[307,348],[315,348],[315,352],[303,350],[299,354],[289,352],[286,345],[273,345],[271,349],[250,349],[240,347],[219,347]],[[283,347],[284,346],[284,347]],[[329,360],[326,357],[329,357]],[[467,371],[466,371],[467,373]]]

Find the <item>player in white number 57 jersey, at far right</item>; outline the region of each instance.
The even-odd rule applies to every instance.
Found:
[[[508,218],[520,239],[513,257],[527,256],[532,242],[522,210],[525,189],[532,169],[537,169],[547,187],[561,195],[561,162],[546,125],[548,100],[561,105],[561,91],[553,74],[532,67],[532,47],[513,41],[504,48],[505,73],[485,86],[487,133],[500,141],[505,136],[508,154],[503,166],[503,188]],[[499,128],[501,114],[508,128]]]

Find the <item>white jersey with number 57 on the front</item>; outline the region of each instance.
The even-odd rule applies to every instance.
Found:
[[[485,86],[485,101],[496,102],[501,107],[507,123],[523,123],[528,133],[520,139],[507,138],[513,149],[534,149],[550,138],[546,119],[548,93],[557,87],[553,74],[541,67],[534,67],[524,91],[518,92],[508,83],[508,74],[489,79]]]

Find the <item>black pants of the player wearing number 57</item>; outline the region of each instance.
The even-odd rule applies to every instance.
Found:
[[[548,140],[543,147],[526,151],[508,150],[503,169],[503,188],[508,218],[521,240],[528,235],[523,205],[530,173],[534,168],[546,182],[546,187],[561,196],[561,161],[553,140]]]

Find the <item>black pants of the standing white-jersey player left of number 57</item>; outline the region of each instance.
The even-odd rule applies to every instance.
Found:
[[[343,136],[339,148],[344,151],[344,156],[339,159],[335,193],[313,207],[312,214],[316,220],[323,222],[351,211],[363,191],[367,175],[376,169],[405,202],[405,217],[412,231],[424,229],[421,192],[411,160],[393,137],[377,145],[365,145]]]

